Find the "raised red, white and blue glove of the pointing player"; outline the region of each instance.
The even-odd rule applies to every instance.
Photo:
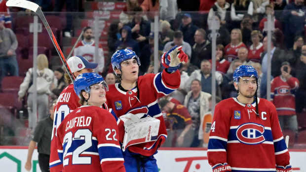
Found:
[[[182,63],[187,62],[188,56],[182,50],[182,46],[174,46],[161,56],[161,63],[168,70],[168,72],[176,71],[179,69]]]

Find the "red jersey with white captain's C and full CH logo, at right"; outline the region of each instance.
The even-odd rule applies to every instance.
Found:
[[[236,98],[215,107],[208,142],[208,163],[228,163],[232,172],[275,172],[289,165],[275,106],[266,99],[242,104]]]

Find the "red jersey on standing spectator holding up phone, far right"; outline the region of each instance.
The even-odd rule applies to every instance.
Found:
[[[278,115],[295,115],[295,92],[299,87],[298,78],[285,81],[280,76],[271,81],[271,99]]]

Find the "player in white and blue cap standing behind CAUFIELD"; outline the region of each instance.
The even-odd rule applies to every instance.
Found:
[[[81,73],[92,72],[93,69],[97,67],[96,63],[89,63],[82,56],[73,56],[67,60],[67,64],[70,67],[71,71],[75,76],[78,76]],[[60,94],[57,99],[54,121],[53,121],[53,131],[51,137],[51,149],[50,149],[50,170],[51,172],[61,172],[63,169],[63,165],[60,162],[57,150],[55,147],[56,137],[57,137],[57,128],[64,120],[64,118],[68,115],[68,113],[72,112],[77,107],[81,106],[78,102],[79,98],[74,91],[74,85],[71,83],[68,85]]]

